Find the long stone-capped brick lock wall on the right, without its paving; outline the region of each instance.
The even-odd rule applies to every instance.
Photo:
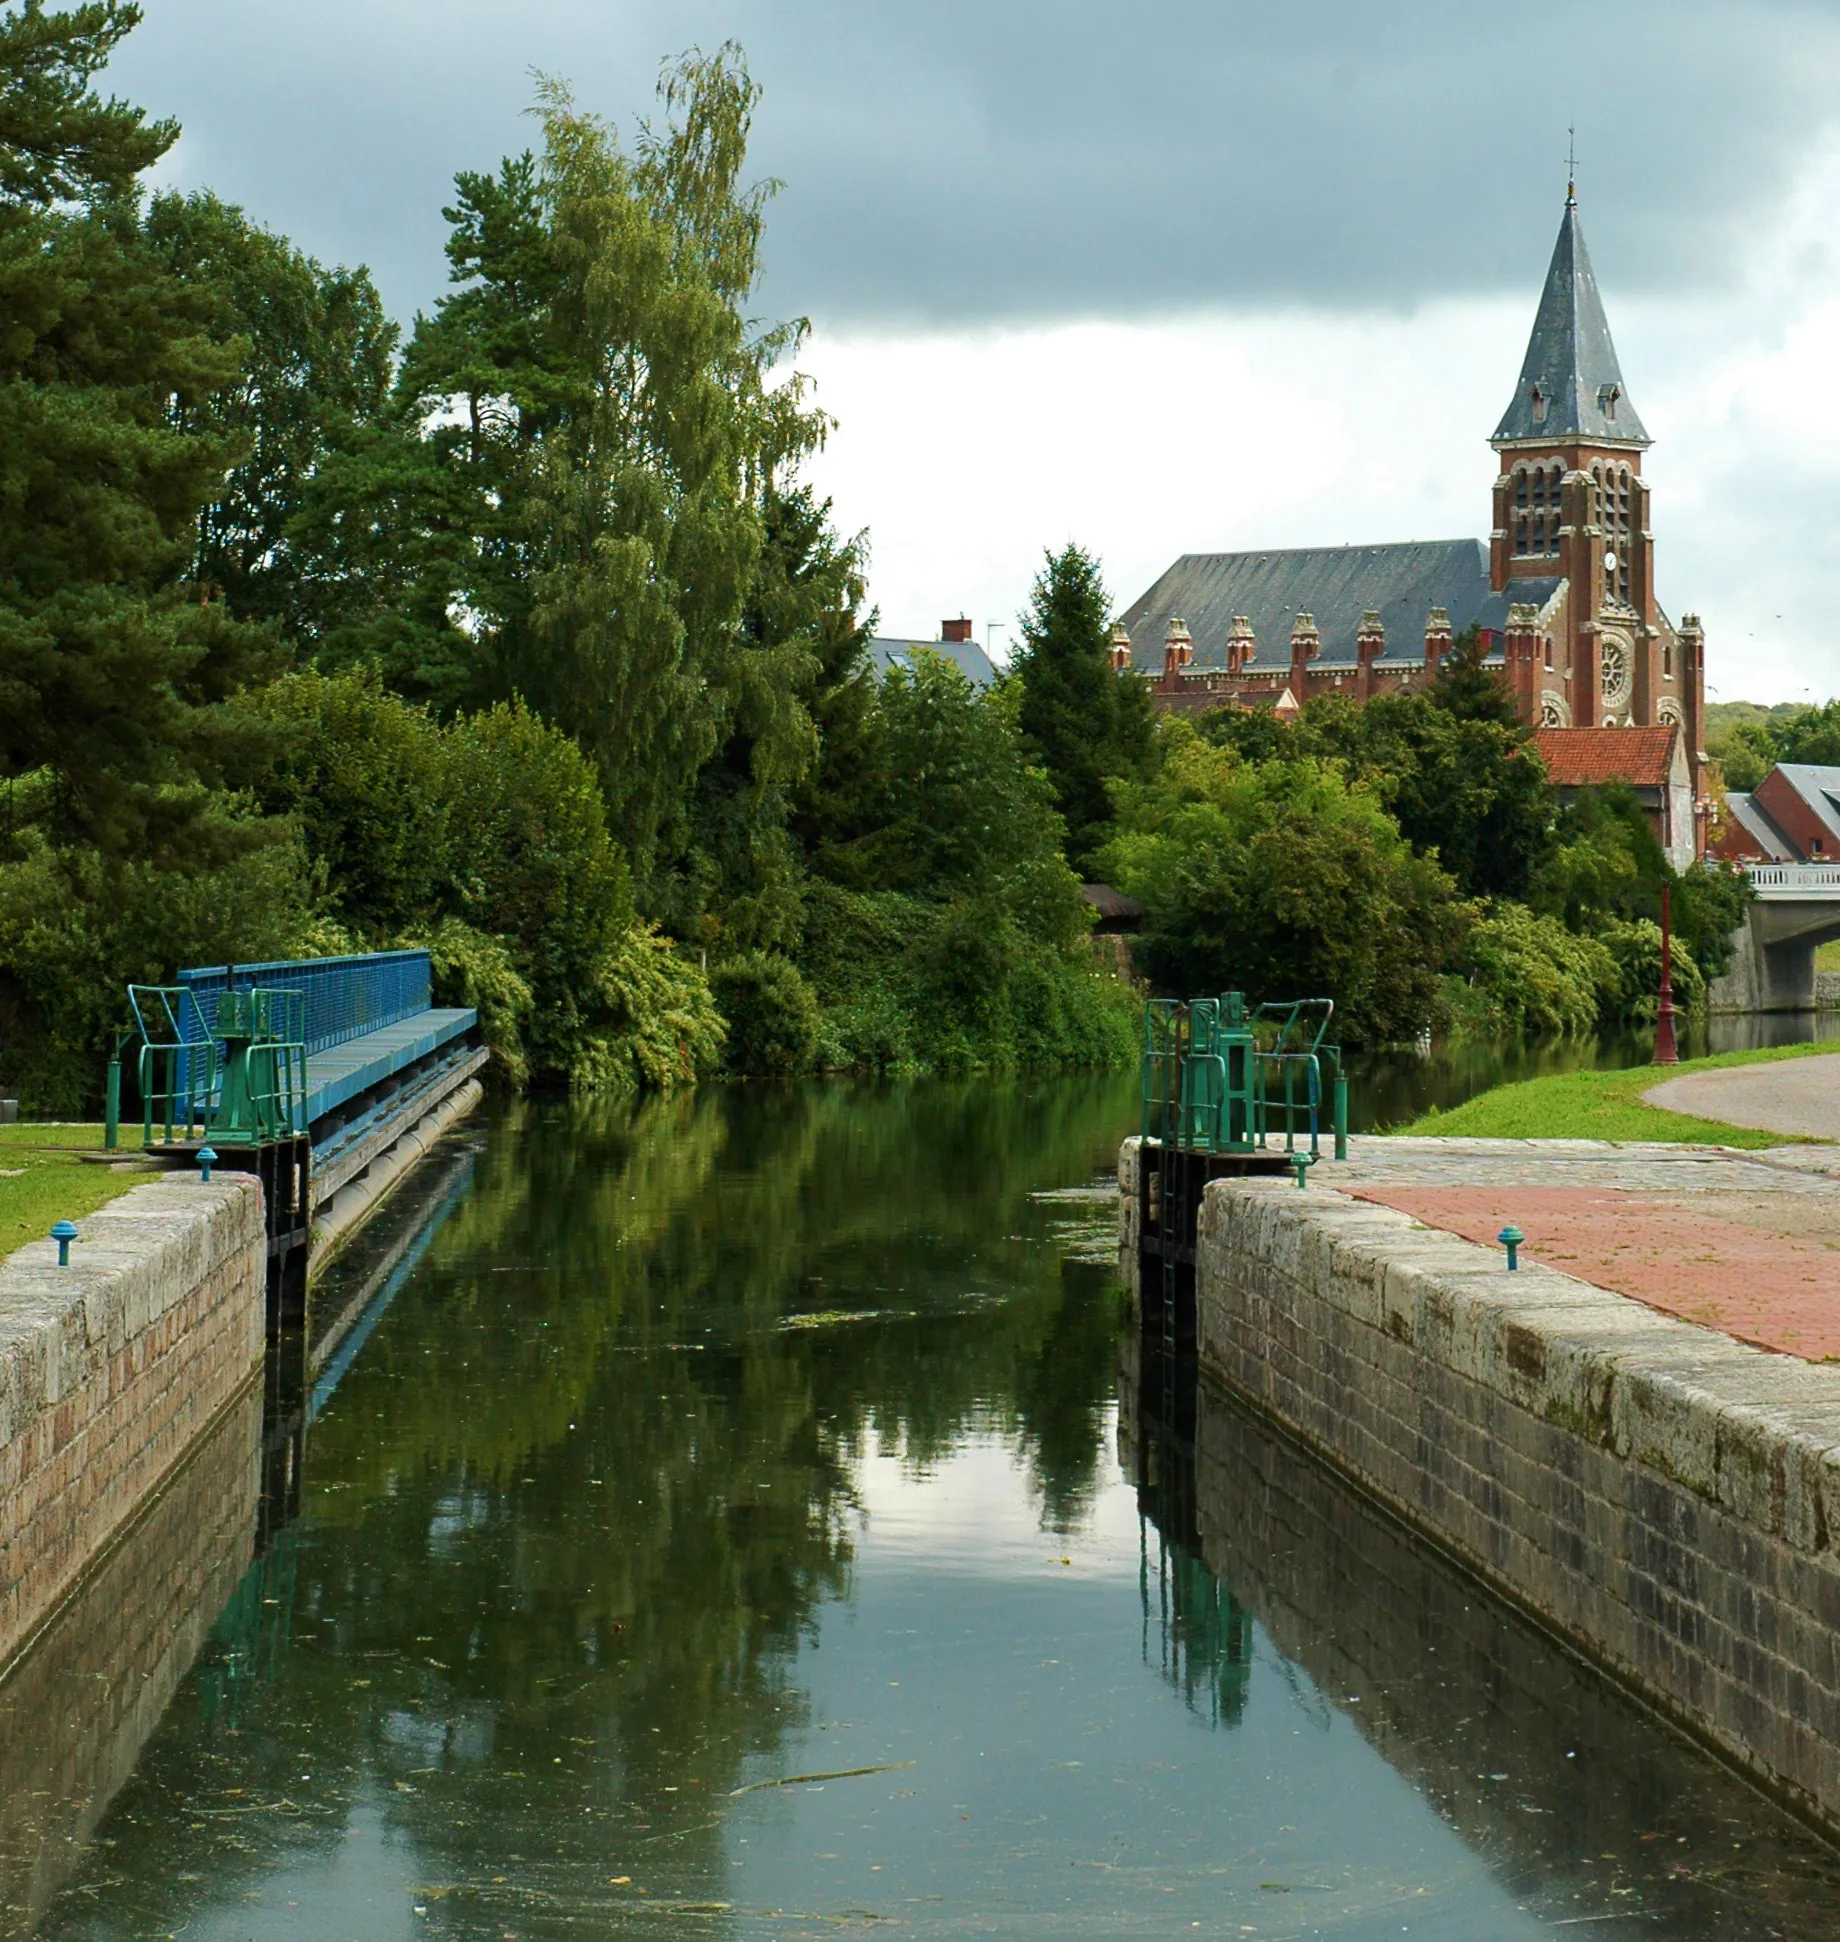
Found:
[[[1214,1183],[1203,1363],[1840,1827],[1840,1369],[1339,1194]]]

